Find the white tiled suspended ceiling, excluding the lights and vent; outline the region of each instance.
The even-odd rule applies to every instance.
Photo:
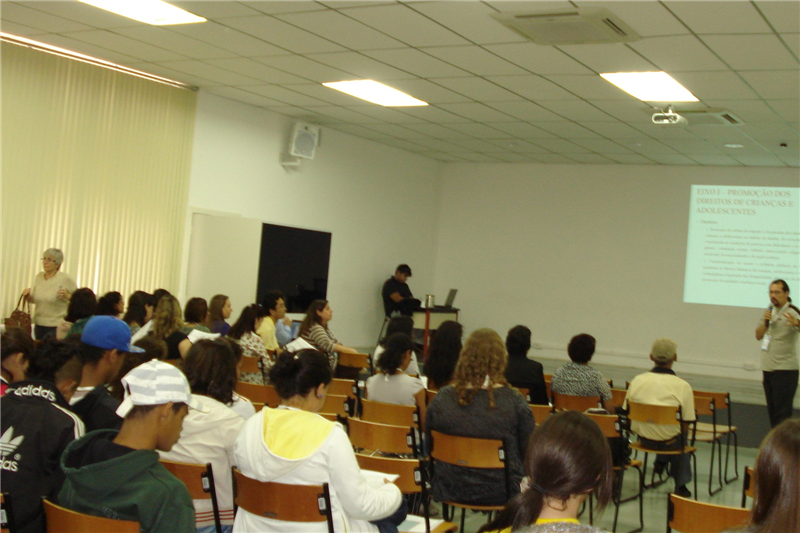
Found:
[[[208,22],[0,0],[0,31],[441,161],[800,166],[797,0],[172,3]],[[605,7],[642,40],[539,46],[489,16],[569,7]],[[678,110],[724,108],[745,125],[656,126],[597,75],[630,70],[665,70],[700,99]],[[320,85],[358,78],[431,105],[383,108]]]

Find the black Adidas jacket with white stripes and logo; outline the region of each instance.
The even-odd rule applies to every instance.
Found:
[[[12,384],[0,398],[0,492],[8,492],[20,533],[44,533],[42,496],[55,501],[64,482],[59,467],[83,422],[52,383]]]

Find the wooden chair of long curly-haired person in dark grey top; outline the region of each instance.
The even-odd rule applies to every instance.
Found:
[[[460,437],[456,435],[447,435],[438,431],[431,431],[430,446],[431,470],[433,472],[436,471],[437,461],[463,468],[502,469],[505,478],[502,488],[498,487],[498,489],[501,489],[502,493],[506,496],[503,498],[503,501],[508,500],[509,474],[502,440]],[[436,476],[434,475],[434,479],[432,480],[434,484],[435,479]],[[461,527],[459,531],[464,531],[464,513],[467,509],[473,511],[489,511],[489,516],[487,517],[488,522],[492,518],[493,511],[501,511],[505,508],[505,505],[475,505],[458,501],[443,501],[442,504],[461,508]],[[447,518],[446,514],[445,518]]]

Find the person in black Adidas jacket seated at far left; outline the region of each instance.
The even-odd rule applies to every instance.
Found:
[[[84,433],[67,403],[81,379],[78,354],[77,341],[43,342],[30,356],[27,377],[0,398],[0,492],[11,495],[21,533],[44,533],[42,496],[55,501],[64,482],[61,453]]]

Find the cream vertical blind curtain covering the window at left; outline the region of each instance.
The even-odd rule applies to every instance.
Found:
[[[178,289],[196,93],[0,43],[0,313],[64,251],[78,287]]]

